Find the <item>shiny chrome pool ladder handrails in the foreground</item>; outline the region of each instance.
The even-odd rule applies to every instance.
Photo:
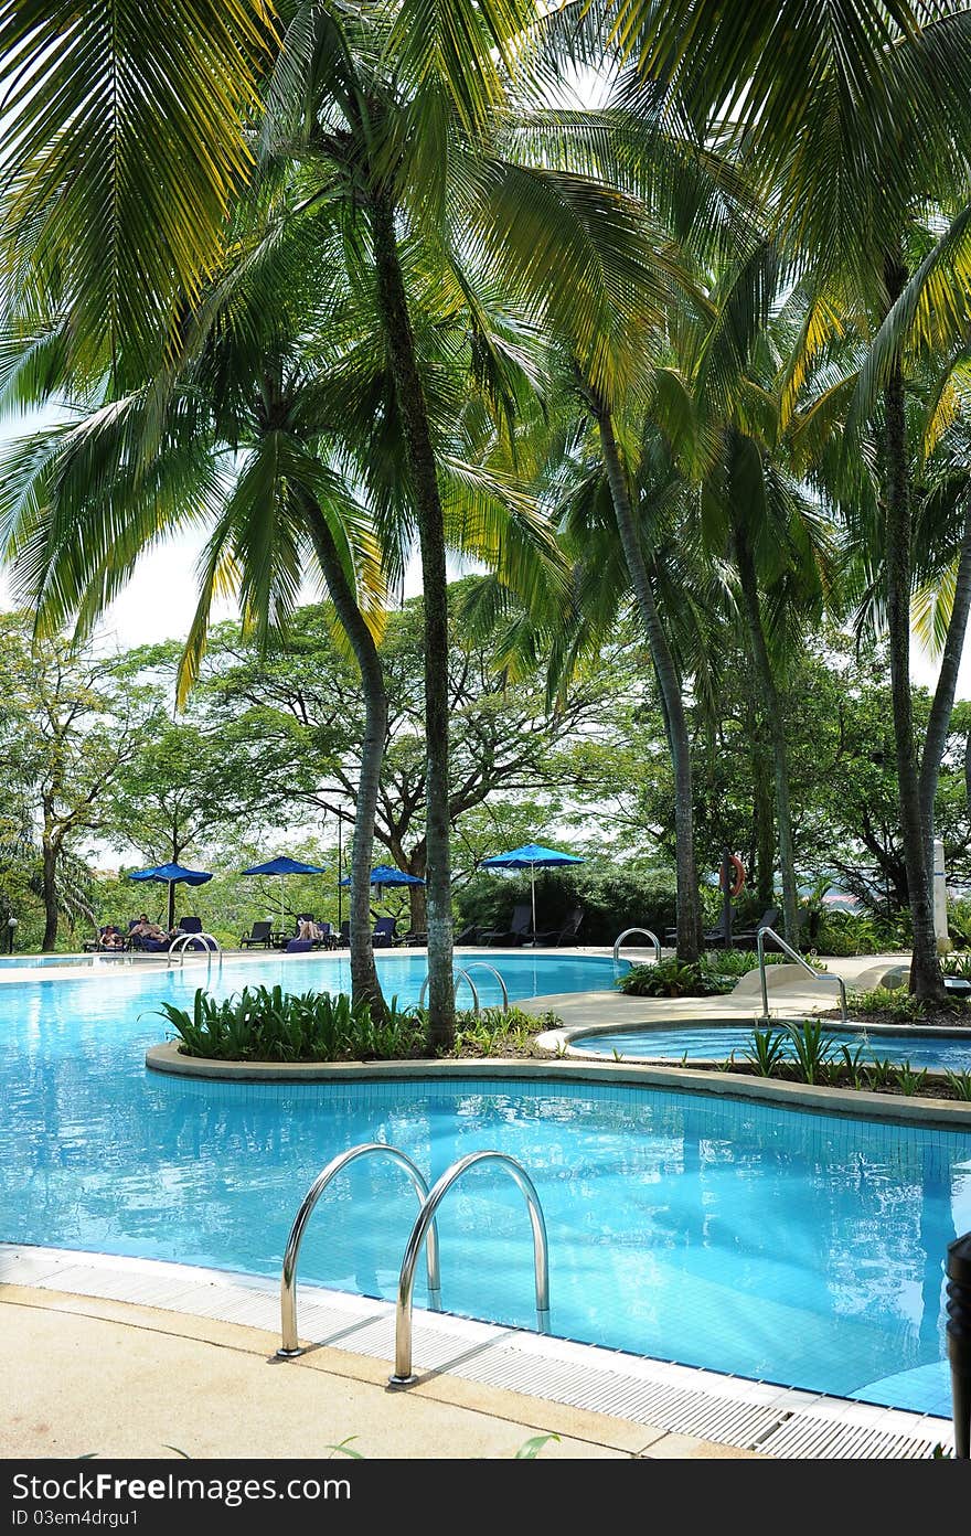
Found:
[[[340,1157],[335,1157],[330,1163],[327,1163],[327,1166],[310,1184],[301,1201],[300,1210],[293,1218],[293,1226],[290,1227],[290,1235],[283,1255],[283,1273],[280,1278],[281,1342],[277,1350],[280,1359],[293,1359],[297,1355],[303,1355],[303,1346],[300,1344],[300,1335],[297,1332],[297,1260],[300,1256],[300,1244],[303,1241],[307,1221],[310,1220],[310,1213],[336,1174],[343,1172],[349,1163],[355,1163],[358,1158],[378,1154],[390,1158],[392,1163],[396,1163],[398,1167],[407,1174],[419,1201],[418,1215],[404,1249],[404,1258],[401,1260],[401,1272],[398,1276],[398,1303],[395,1307],[395,1373],[389,1376],[389,1385],[410,1387],[418,1381],[418,1376],[412,1372],[412,1296],[415,1290],[415,1270],[424,1247],[429,1276],[429,1306],[433,1312],[441,1312],[441,1275],[435,1213],[452,1186],[456,1184],[470,1167],[476,1167],[479,1163],[495,1163],[496,1167],[501,1167],[505,1174],[509,1174],[525,1198],[530,1226],[533,1230],[536,1329],[539,1333],[548,1333],[550,1266],[547,1230],[536,1186],[522,1164],[516,1163],[516,1160],[509,1157],[505,1152],[470,1152],[467,1157],[452,1163],[438,1183],[429,1189],[421,1172],[407,1154],[401,1152],[398,1147],[387,1146],[384,1141],[363,1141],[360,1146],[350,1147],[349,1152],[341,1152]]]

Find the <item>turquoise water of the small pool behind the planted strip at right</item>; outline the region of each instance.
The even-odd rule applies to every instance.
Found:
[[[911,1035],[882,1034],[879,1029],[833,1031],[836,1055],[839,1044],[850,1051],[862,1048],[868,1061],[910,1061],[914,1068],[948,1072],[971,1069],[971,1035],[914,1031]],[[615,1051],[625,1058],[645,1057],[651,1061],[725,1061],[734,1051],[742,1060],[751,1051],[751,1025],[656,1025],[651,1029],[610,1029],[598,1035],[581,1035],[570,1041],[573,1051],[610,1057]],[[793,1049],[787,1044],[787,1055]]]

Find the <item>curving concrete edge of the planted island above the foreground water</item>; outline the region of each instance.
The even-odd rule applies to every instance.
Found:
[[[152,1072],[221,1083],[347,1083],[423,1077],[545,1078],[552,1083],[558,1080],[610,1081],[624,1086],[716,1094],[728,1098],[768,1100],[790,1109],[814,1109],[860,1120],[899,1120],[949,1130],[971,1129],[971,1104],[946,1098],[908,1098],[906,1095],[870,1094],[845,1087],[810,1087],[805,1083],[742,1077],[734,1072],[691,1071],[690,1068],[633,1061],[592,1061],[588,1057],[581,1057],[579,1052],[568,1058],[524,1057],[515,1060],[507,1057],[459,1057],[447,1061],[206,1061],[200,1057],[184,1057],[175,1041],[164,1041],[158,1046],[149,1046],[144,1064]]]

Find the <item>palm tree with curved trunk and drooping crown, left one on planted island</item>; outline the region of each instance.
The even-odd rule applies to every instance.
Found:
[[[15,579],[40,628],[78,616],[85,633],[158,538],[210,528],[200,599],[180,668],[180,699],[198,674],[212,601],[238,596],[244,627],[266,642],[286,625],[307,568],[320,570],[361,673],[366,727],[352,849],[352,986],[379,1017],[384,1000],[370,943],[373,814],[387,728],[376,648],[381,545],[353,485],[361,467],[344,447],[346,407],[321,387],[326,361],[309,346],[303,309],[313,276],[333,324],[349,323],[320,247],[293,260],[287,241],[257,241],[204,295],[187,326],[181,367],[164,389],[103,399],[101,381],[75,401],[77,419],[15,442],[0,470],[0,528]],[[267,293],[275,301],[267,303]],[[32,349],[23,339],[14,393]],[[65,387],[71,378],[65,378]],[[147,447],[146,447],[147,445]],[[393,564],[393,562],[392,562]]]

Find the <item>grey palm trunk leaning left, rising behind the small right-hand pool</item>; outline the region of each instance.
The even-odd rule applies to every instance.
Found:
[[[630,488],[627,475],[621,462],[621,453],[613,433],[610,410],[602,404],[595,404],[595,415],[601,429],[601,447],[604,465],[610,482],[613,513],[621,535],[621,547],[627,570],[641,611],[641,621],[647,634],[655,673],[661,688],[664,717],[668,730],[671,750],[671,766],[674,770],[674,859],[678,871],[678,958],[698,960],[701,914],[698,900],[698,871],[694,868],[694,808],[691,791],[691,742],[681,697],[681,679],[671,656],[671,648],[661,624],[658,604],[651,588],[650,573],[644,559],[644,551],[638,539],[633,508],[630,504]]]

